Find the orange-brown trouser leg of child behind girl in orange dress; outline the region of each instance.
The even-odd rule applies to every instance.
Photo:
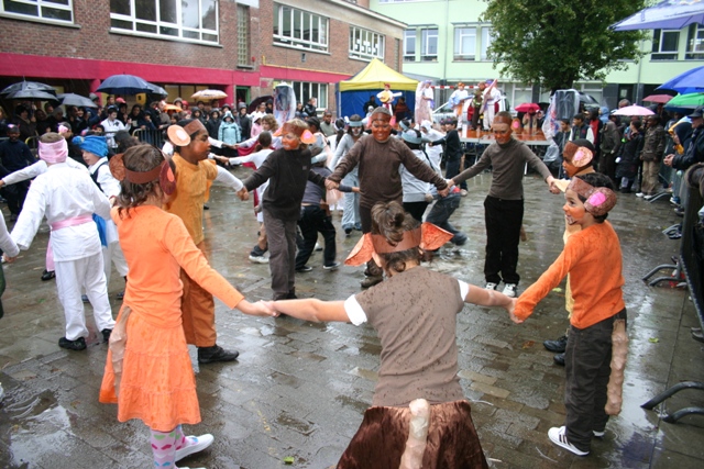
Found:
[[[205,243],[197,246],[205,256]],[[194,281],[184,270],[180,271],[184,284],[184,295],[180,310],[184,314],[184,334],[186,343],[197,347],[212,347],[216,345],[216,302],[198,282]]]

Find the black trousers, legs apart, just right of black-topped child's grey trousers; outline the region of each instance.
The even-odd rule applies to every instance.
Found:
[[[296,255],[296,269],[302,268],[312,249],[316,247],[316,241],[318,241],[318,233],[320,233],[326,241],[326,247],[322,253],[323,266],[331,266],[334,264],[336,256],[336,232],[332,225],[332,216],[320,208],[320,205],[306,205],[300,209],[301,217],[298,220],[298,227],[300,227],[300,237],[297,239],[298,254]]]

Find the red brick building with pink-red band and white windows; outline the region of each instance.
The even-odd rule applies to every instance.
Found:
[[[249,102],[286,81],[334,108],[334,83],[373,57],[400,70],[405,27],[369,0],[4,0],[0,88],[25,78],[87,96],[131,74],[168,100],[210,88]]]

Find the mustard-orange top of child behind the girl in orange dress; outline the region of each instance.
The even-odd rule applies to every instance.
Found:
[[[218,168],[208,160],[193,165],[177,153],[173,161],[176,165],[176,192],[164,204],[164,210],[182,219],[194,243],[198,244],[205,239],[202,204],[208,198],[209,185],[218,176]]]

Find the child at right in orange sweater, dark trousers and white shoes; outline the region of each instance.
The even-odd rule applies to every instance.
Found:
[[[608,421],[612,334],[619,321],[623,327],[626,321],[623,259],[618,236],[606,221],[616,204],[612,181],[597,172],[578,176],[570,181],[564,199],[568,224],[582,230],[568,238],[558,259],[518,298],[512,319],[522,322],[570,273],[574,308],[564,356],[566,418],[563,426],[550,428],[548,436],[556,445],[586,456],[592,437],[603,436]]]

